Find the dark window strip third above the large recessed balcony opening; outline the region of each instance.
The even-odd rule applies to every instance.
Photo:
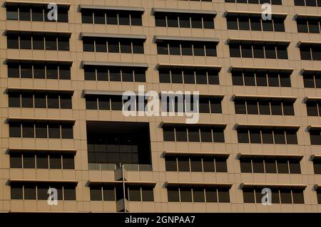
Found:
[[[104,53],[144,53],[143,39],[83,38],[83,51]]]

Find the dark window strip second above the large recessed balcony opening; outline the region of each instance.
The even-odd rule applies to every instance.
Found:
[[[85,65],[85,80],[146,82],[146,68]]]

